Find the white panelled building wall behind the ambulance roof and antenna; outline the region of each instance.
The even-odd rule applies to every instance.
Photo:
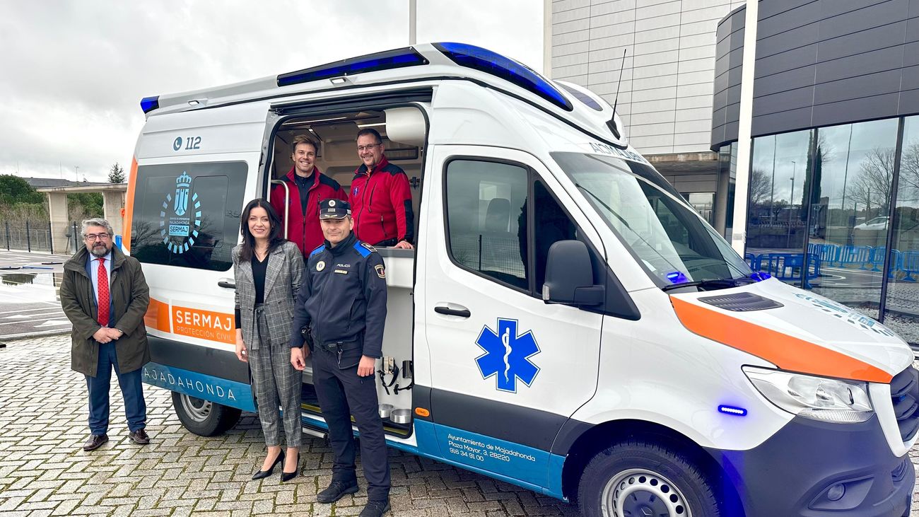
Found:
[[[550,0],[546,0],[547,2]],[[715,31],[743,0],[551,1],[551,77],[612,104],[642,153],[709,151]]]

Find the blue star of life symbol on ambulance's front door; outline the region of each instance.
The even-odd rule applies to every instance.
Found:
[[[539,345],[528,330],[517,335],[516,319],[498,318],[497,331],[487,325],[482,327],[479,339],[475,340],[485,353],[475,359],[482,372],[482,379],[495,376],[500,391],[516,393],[516,381],[532,385],[539,373],[539,366],[529,360],[539,353]]]

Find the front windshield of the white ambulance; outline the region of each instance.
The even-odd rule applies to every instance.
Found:
[[[752,270],[652,167],[612,156],[552,153],[658,285],[752,281]]]

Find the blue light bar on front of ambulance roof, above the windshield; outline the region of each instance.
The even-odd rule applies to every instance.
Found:
[[[545,98],[559,108],[568,111],[573,109],[571,101],[565,98],[558,88],[552,86],[549,80],[513,59],[465,43],[434,43],[434,47],[443,52],[453,63],[510,81],[516,86]]]

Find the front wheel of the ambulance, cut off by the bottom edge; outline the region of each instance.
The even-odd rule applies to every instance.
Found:
[[[578,484],[584,517],[720,517],[704,472],[686,455],[654,442],[630,440],[601,451]]]

